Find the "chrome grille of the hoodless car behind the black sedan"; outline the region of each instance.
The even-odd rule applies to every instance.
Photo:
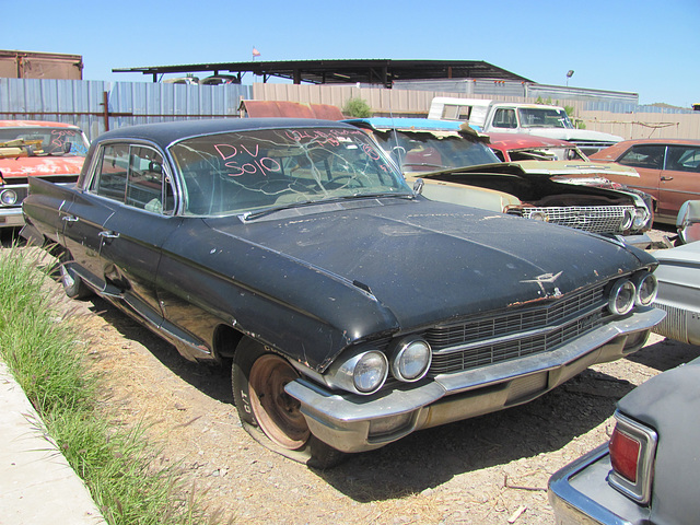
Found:
[[[535,213],[544,213],[547,222],[575,228],[593,233],[621,232],[620,224],[628,217],[634,217],[633,206],[565,206],[551,208],[524,208],[525,219]]]

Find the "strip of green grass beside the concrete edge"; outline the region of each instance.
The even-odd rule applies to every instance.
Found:
[[[46,256],[0,252],[0,358],[34,405],[48,434],[84,480],[109,524],[213,523],[174,469],[153,468],[158,448],[143,424],[115,424],[100,399],[100,377],[86,359],[80,316],[61,313]],[[60,294],[60,295],[57,295]]]

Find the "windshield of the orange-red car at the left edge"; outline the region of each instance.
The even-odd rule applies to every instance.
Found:
[[[31,156],[88,154],[85,136],[70,128],[0,128],[0,147],[21,148]]]

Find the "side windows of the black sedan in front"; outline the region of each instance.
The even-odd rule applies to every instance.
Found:
[[[163,170],[163,156],[148,147],[105,145],[90,190],[154,213],[174,211],[174,191]]]

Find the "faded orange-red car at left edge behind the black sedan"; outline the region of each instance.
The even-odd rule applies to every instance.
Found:
[[[39,120],[0,120],[0,228],[24,224],[28,177],[74,183],[89,148],[77,126]]]

